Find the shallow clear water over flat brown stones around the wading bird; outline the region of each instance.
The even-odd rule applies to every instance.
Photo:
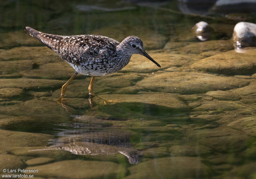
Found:
[[[0,173],[34,178],[255,178],[255,49],[236,53],[239,18],[183,15],[176,2],[97,4],[2,2],[0,9]],[[162,5],[162,6],[161,6]],[[168,11],[174,10],[174,11]],[[15,12],[15,13],[14,13]],[[192,27],[216,34],[199,42]],[[77,75],[27,31],[141,38],[162,67],[133,55],[121,71]],[[19,174],[10,172],[5,174]],[[31,175],[24,172],[23,174]]]

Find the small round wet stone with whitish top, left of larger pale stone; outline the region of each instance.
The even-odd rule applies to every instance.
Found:
[[[213,28],[204,21],[196,23],[196,25],[192,29],[194,31],[194,34],[196,35],[196,38],[201,41],[209,40],[214,33]]]

